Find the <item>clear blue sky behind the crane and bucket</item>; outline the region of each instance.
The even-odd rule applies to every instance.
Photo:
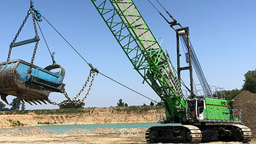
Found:
[[[161,46],[164,50],[168,50],[176,66],[176,34],[148,1],[134,1],[154,36],[164,39]],[[183,26],[189,26],[192,44],[208,83],[228,90],[241,88],[244,83],[244,74],[256,68],[256,1],[160,1]],[[36,0],[34,5],[99,71],[159,101],[157,94],[149,86],[142,84],[142,78],[132,68],[132,64],[91,1]],[[6,61],[10,42],[28,9],[29,0],[1,1],[0,61]],[[67,92],[70,96],[75,96],[83,86],[90,69],[45,21],[42,21],[40,26],[51,50],[56,52],[56,61],[66,69],[64,83],[67,83]],[[34,31],[29,18],[18,41],[32,37],[34,37]],[[33,48],[34,45],[14,48],[11,59],[21,58],[30,61]],[[39,67],[51,64],[42,40],[39,43],[34,64]],[[182,74],[187,75],[187,72]],[[184,80],[187,81],[187,77],[184,77]],[[10,96],[9,101],[12,98]],[[64,96],[53,93],[50,94],[50,99],[61,102]],[[123,99],[129,105],[150,103],[148,99],[113,83],[102,75],[97,75],[91,94],[86,99],[86,107],[116,106],[118,99]],[[29,109],[58,108],[53,105],[26,105],[26,107]]]

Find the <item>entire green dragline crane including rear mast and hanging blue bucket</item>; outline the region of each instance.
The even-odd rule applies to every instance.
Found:
[[[177,25],[181,26],[180,29],[173,28],[177,34],[177,51],[179,50],[178,40],[181,37],[188,52],[186,56],[189,67],[180,67],[178,64],[177,77],[175,69],[170,65],[169,56],[162,50],[132,0],[91,0],[91,2],[107,24],[122,50],[124,50],[134,69],[143,77],[143,83],[148,83],[165,105],[165,121],[162,121],[161,126],[152,126],[146,131],[147,143],[200,143],[217,140],[246,143],[252,139],[251,130],[241,123],[241,116],[236,109],[236,102],[211,94],[206,78],[195,56],[195,51],[192,49],[191,42],[189,41],[188,28],[183,28],[170,15],[170,18],[173,19],[173,22],[168,22],[170,26],[172,28]],[[32,16],[36,36],[32,39],[16,42],[29,15]],[[96,73],[103,74],[98,69],[92,67],[64,39],[91,67],[89,77],[83,88],[73,99],[70,99],[63,83],[64,68],[56,64],[53,54],[50,53],[53,60],[53,64],[50,66],[41,68],[34,65],[34,57],[39,42],[39,35],[37,34],[37,25],[39,26],[39,24],[37,21],[42,21],[42,18],[44,17],[35,9],[34,3],[31,0],[31,6],[26,18],[23,20],[18,34],[15,35],[10,44],[7,61],[0,63],[1,99],[7,102],[6,97],[12,95],[17,96],[21,101],[29,102],[29,104],[33,102],[37,105],[37,103],[41,104],[41,102],[45,103],[47,101],[53,105],[67,105],[67,102],[76,103],[75,99],[80,96],[91,79],[86,95],[82,100],[78,100],[78,103],[83,102],[89,94],[94,81],[94,75]],[[48,22],[46,18],[44,19]],[[52,25],[50,24],[50,26]],[[39,30],[41,30],[40,27]],[[59,33],[59,31],[57,32]],[[45,38],[43,34],[42,37]],[[62,35],[61,37],[64,38]],[[35,47],[30,63],[20,59],[10,61],[12,48],[33,42]],[[179,61],[180,55],[179,53],[177,55]],[[204,96],[195,96],[193,92],[192,65],[197,72],[197,76],[200,75]],[[51,72],[52,69],[59,69],[59,72]],[[189,91],[191,95],[189,97],[184,96],[181,90],[180,72],[184,69],[189,69],[190,72],[191,87]],[[63,93],[67,98],[67,102],[59,104],[51,102],[48,99],[51,92]],[[181,123],[181,125],[173,125],[173,123]]]

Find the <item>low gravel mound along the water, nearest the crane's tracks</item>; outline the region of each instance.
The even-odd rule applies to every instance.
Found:
[[[64,134],[69,135],[105,135],[105,134],[140,134],[145,133],[146,128],[138,129],[115,129],[115,128],[96,128],[91,130],[86,129],[70,129]]]

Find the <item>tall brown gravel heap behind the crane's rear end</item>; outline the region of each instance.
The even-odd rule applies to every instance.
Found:
[[[242,122],[252,130],[256,138],[256,94],[242,91],[235,100],[238,110],[242,110]]]

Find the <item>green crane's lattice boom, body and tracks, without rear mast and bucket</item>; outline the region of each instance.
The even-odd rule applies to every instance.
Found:
[[[143,77],[143,83],[148,83],[164,102],[166,119],[163,123],[190,124],[152,126],[146,132],[148,143],[251,140],[250,129],[239,125],[241,118],[235,101],[218,96],[185,99],[173,67],[132,0],[91,1],[134,69]],[[218,124],[208,126],[207,123]],[[232,135],[236,133],[240,135]]]

